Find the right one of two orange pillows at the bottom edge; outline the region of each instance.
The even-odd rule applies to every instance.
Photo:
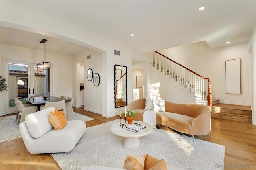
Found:
[[[156,159],[150,155],[145,157],[145,170],[167,170],[164,159]]]

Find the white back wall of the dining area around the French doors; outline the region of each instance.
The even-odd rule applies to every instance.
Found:
[[[0,74],[3,75],[5,61],[26,61],[29,63],[41,62],[41,50],[28,49],[24,47],[18,47],[14,45],[7,45],[0,43]],[[71,56],[60,55],[56,53],[50,53],[46,51],[46,61],[51,62],[52,68],[50,69],[50,87],[52,88],[52,96],[71,96]],[[61,61],[61,62],[60,62]],[[8,70],[8,68],[7,68]],[[7,73],[8,74],[8,73]],[[7,82],[8,83],[8,82]],[[0,92],[3,95],[3,99],[0,102],[3,104],[2,111],[5,112],[5,98],[8,98],[8,91]],[[6,97],[5,97],[6,96]],[[0,96],[1,97],[1,96]]]

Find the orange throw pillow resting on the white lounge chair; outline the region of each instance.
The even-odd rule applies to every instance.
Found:
[[[51,123],[55,130],[63,129],[68,123],[65,113],[59,111],[58,109],[55,109],[55,113],[50,111],[48,121]]]

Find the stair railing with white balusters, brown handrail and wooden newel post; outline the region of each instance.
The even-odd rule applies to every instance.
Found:
[[[179,89],[185,94],[188,96],[193,94],[195,103],[212,105],[210,78],[204,78],[158,52],[152,53],[151,64],[152,67],[156,67],[157,70],[164,72],[174,82],[177,82],[177,86],[182,86]]]

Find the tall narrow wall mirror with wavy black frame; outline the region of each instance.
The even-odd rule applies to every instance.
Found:
[[[127,67],[115,65],[115,108],[127,105]]]

